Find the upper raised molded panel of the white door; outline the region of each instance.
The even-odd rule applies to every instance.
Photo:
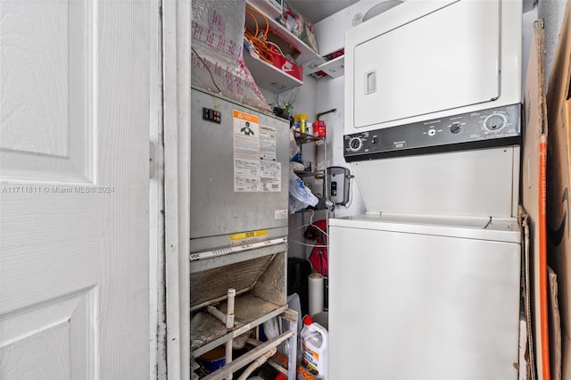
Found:
[[[26,3],[2,4],[0,179],[94,183],[99,2]]]

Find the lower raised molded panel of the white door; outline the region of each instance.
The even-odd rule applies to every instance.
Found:
[[[97,378],[97,304],[94,286],[0,315],[3,376]]]

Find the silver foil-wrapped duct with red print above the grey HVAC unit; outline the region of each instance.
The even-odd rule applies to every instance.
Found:
[[[245,0],[193,0],[192,85],[271,111],[243,61]]]

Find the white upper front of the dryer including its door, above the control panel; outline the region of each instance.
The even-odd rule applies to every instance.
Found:
[[[519,103],[521,7],[410,0],[348,30],[345,134]]]

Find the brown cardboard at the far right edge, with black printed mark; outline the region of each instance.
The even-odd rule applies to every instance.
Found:
[[[571,379],[571,229],[569,186],[571,178],[571,3],[561,23],[559,43],[550,72],[547,110],[550,125],[547,167],[548,260],[557,274],[561,326],[561,363],[554,364],[562,379]],[[557,345],[553,350],[559,350]],[[560,368],[559,368],[560,366]]]

